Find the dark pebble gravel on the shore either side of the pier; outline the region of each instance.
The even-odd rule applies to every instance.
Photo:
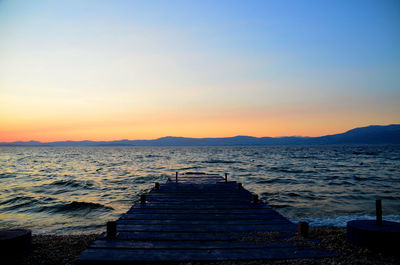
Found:
[[[98,235],[34,235],[33,250],[25,255],[13,257],[8,264],[16,265],[72,265],[80,253],[85,250]],[[346,228],[311,227],[309,238],[320,241],[329,251],[338,253],[337,257],[322,259],[288,259],[268,261],[212,262],[207,264],[258,265],[258,264],[400,264],[400,257],[372,252],[359,248],[346,241]],[[302,240],[302,239],[293,239]],[[2,263],[4,264],[4,263]],[[181,263],[182,264],[182,263]],[[184,263],[186,265],[205,263]]]

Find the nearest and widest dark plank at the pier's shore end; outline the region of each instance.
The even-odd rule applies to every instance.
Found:
[[[326,257],[329,253],[301,247],[255,249],[87,249],[78,262],[157,262],[157,261],[222,261],[265,260]],[[332,255],[331,255],[332,256]],[[87,263],[86,263],[87,264]]]

